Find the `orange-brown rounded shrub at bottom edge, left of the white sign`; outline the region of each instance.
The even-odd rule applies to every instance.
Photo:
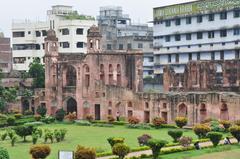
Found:
[[[48,145],[35,145],[30,148],[29,153],[33,159],[45,159],[51,153],[51,149]]]

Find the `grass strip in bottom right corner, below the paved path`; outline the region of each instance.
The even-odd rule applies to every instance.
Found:
[[[159,159],[239,159],[239,155],[240,145],[224,145],[216,148],[160,155]]]

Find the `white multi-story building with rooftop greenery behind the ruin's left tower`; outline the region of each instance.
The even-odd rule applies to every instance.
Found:
[[[47,11],[47,21],[12,23],[13,69],[26,71],[34,58],[44,63],[44,38],[54,29],[60,53],[86,53],[87,31],[97,25],[91,16],[79,15],[71,6],[56,5]]]

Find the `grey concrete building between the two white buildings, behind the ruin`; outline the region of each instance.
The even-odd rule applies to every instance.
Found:
[[[100,8],[97,18],[102,33],[103,50],[141,50],[144,54],[143,76],[153,75],[153,30],[147,24],[134,24],[121,7]]]

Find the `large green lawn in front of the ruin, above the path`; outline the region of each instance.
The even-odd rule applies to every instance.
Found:
[[[52,130],[56,128],[66,128],[68,130],[66,140],[60,143],[50,144],[52,152],[48,159],[57,159],[58,150],[75,150],[78,144],[83,146],[89,146],[94,148],[101,148],[105,151],[111,151],[109,144],[107,143],[108,137],[124,137],[125,142],[131,148],[138,147],[137,137],[147,133],[152,135],[157,139],[164,139],[172,141],[172,139],[167,135],[169,129],[152,129],[152,130],[140,130],[140,129],[128,129],[124,126],[115,126],[113,128],[103,128],[103,127],[89,127],[89,126],[78,126],[78,125],[68,125],[68,124],[51,124],[41,126],[42,129],[50,128]],[[0,131],[1,133],[1,131]],[[193,134],[191,130],[184,130],[185,136],[191,136],[193,139],[197,137]],[[11,147],[10,141],[0,141],[0,146],[8,149],[11,159],[18,159],[19,156],[23,159],[30,158],[29,148],[32,145],[31,137],[28,137],[28,143],[22,143],[22,139],[19,138],[15,147]],[[41,139],[38,143],[43,143]]]

